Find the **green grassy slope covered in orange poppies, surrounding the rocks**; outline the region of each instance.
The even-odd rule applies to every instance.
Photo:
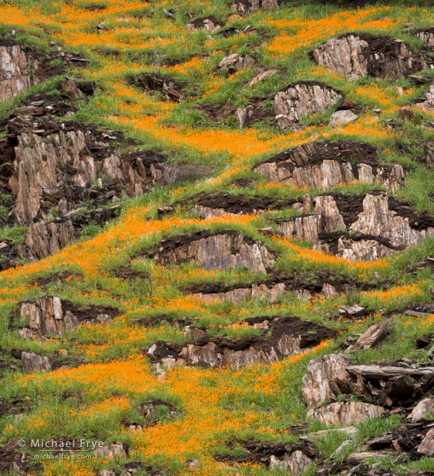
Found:
[[[428,270],[415,274],[406,270],[418,259],[433,254],[433,240],[420,248],[410,250],[387,261],[372,264],[348,263],[309,247],[289,241],[273,241],[258,233],[266,224],[265,218],[248,216],[243,219],[223,217],[209,221],[198,220],[188,211],[178,210],[168,219],[157,219],[156,208],[174,199],[194,195],[199,191],[229,190],[234,193],[262,194],[277,197],[297,197],[305,190],[287,186],[269,187],[254,177],[251,165],[276,150],[296,146],[314,137],[347,137],[369,141],[384,148],[385,161],[398,161],[410,166],[406,185],[400,197],[412,201],[420,210],[434,211],[429,195],[434,192],[434,172],[426,170],[415,156],[420,153],[420,142],[428,138],[428,128],[404,123],[399,131],[413,154],[403,155],[397,149],[395,130],[386,124],[396,116],[401,106],[410,105],[424,89],[415,88],[406,80],[382,81],[361,79],[349,81],[335,75],[307,59],[313,46],[329,37],[346,31],[362,30],[401,37],[420,48],[411,34],[402,32],[403,23],[415,26],[432,23],[433,10],[418,7],[417,2],[388,2],[389,6],[371,6],[357,11],[342,10],[337,6],[297,6],[289,3],[275,12],[233,17],[227,26],[258,28],[260,34],[245,34],[224,38],[214,34],[207,39],[206,32],[187,32],[188,13],[194,17],[213,14],[225,19],[229,14],[227,3],[186,1],[176,4],[176,20],[168,19],[163,8],[166,1],[141,3],[130,0],[103,0],[105,10],[89,11],[81,6],[89,1],[74,1],[74,6],[63,1],[19,0],[0,6],[0,26],[6,32],[19,29],[23,39],[39,45],[48,41],[64,43],[66,48],[79,50],[94,60],[80,73],[96,81],[101,88],[76,119],[101,123],[111,128],[122,128],[146,148],[156,147],[170,152],[173,161],[207,163],[214,170],[213,177],[186,186],[156,188],[149,194],[124,204],[123,214],[116,224],[101,230],[96,237],[66,248],[58,255],[16,270],[0,274],[0,313],[2,348],[25,348],[50,355],[65,349],[69,357],[83,360],[76,369],[61,370],[47,375],[6,375],[0,382],[1,393],[12,399],[26,395],[32,399],[32,409],[21,419],[3,417],[0,420],[3,442],[12,437],[87,437],[105,441],[123,441],[132,447],[131,459],[142,459],[156,468],[164,467],[177,474],[189,473],[186,462],[199,459],[196,474],[262,475],[269,470],[243,466],[236,471],[214,462],[212,455],[221,453],[225,442],[251,437],[259,440],[294,439],[287,428],[306,421],[306,408],[300,397],[300,379],[309,359],[329,353],[339,341],[360,333],[372,321],[385,318],[380,308],[398,308],[407,301],[429,301],[431,279]],[[412,7],[412,8],[411,8]],[[415,8],[413,8],[415,7]],[[143,14],[143,16],[141,16]],[[104,21],[106,30],[98,32],[96,25]],[[107,53],[116,50],[118,57]],[[107,52],[107,53],[106,53]],[[280,70],[254,88],[246,85],[258,68],[250,68],[224,77],[215,75],[218,62],[230,52],[254,54],[264,68]],[[165,66],[172,64],[176,66]],[[126,78],[136,72],[159,72],[194,85],[193,99],[181,104],[167,103],[158,96],[145,95],[129,86]],[[432,73],[431,73],[432,74]],[[379,117],[364,112],[349,126],[331,130],[324,126],[322,117],[309,119],[310,127],[302,132],[281,132],[267,123],[259,123],[249,130],[236,130],[229,119],[211,123],[198,106],[229,103],[240,106],[249,97],[269,95],[285,84],[298,79],[320,79],[345,92],[360,106],[381,109]],[[397,86],[404,88],[398,94]],[[50,89],[53,83],[38,86]],[[17,103],[17,101],[14,101]],[[13,104],[2,106],[2,114]],[[432,118],[431,118],[432,119]],[[431,120],[420,118],[420,124]],[[327,120],[325,121],[327,123]],[[231,129],[233,128],[233,129]],[[256,179],[254,190],[230,186],[238,177]],[[339,188],[348,192],[366,189],[361,184]],[[273,212],[270,213],[273,215]],[[156,243],[163,235],[172,235],[190,229],[234,228],[247,235],[260,237],[280,254],[279,266],[298,269],[315,279],[320,268],[331,268],[343,275],[370,282],[380,277],[395,281],[387,292],[365,292],[356,297],[342,296],[307,303],[298,301],[289,293],[276,304],[263,301],[247,302],[240,306],[204,304],[180,291],[182,284],[192,281],[224,280],[228,283],[255,277],[240,272],[205,272],[194,266],[163,268],[149,261],[136,261],[134,267],[150,274],[149,282],[138,279],[125,281],[113,277],[110,270],[125,264],[134,251]],[[101,253],[101,250],[104,250]],[[48,289],[32,283],[54,270],[77,270],[83,278],[74,278]],[[19,339],[8,330],[8,317],[17,309],[17,303],[43,293],[55,294],[76,302],[104,302],[121,307],[123,315],[107,326],[81,327],[74,335],[38,344]],[[359,324],[327,320],[336,306],[356,299],[369,306],[371,316]],[[174,326],[136,328],[130,319],[167,313],[169,317],[189,316],[199,325],[221,332],[218,326],[227,326],[225,333],[242,335],[239,323],[254,315],[292,314],[303,319],[321,321],[342,330],[336,341],[324,343],[307,355],[286,359],[271,366],[255,366],[241,371],[200,370],[180,368],[169,373],[165,381],[157,380],[141,351],[156,340],[185,341],[183,333]],[[392,335],[382,347],[380,355],[365,351],[355,355],[358,362],[378,361],[397,357],[427,359],[424,350],[415,350],[419,335],[433,332],[432,317],[412,318],[396,316],[391,322]],[[68,390],[76,397],[64,399]],[[143,433],[127,432],[123,418],[137,420],[136,406],[149,398],[162,397],[178,405],[181,410],[176,421],[162,423]],[[384,422],[360,425],[361,444],[371,435],[382,434],[399,423],[398,417]],[[318,428],[318,424],[313,424]],[[324,458],[342,442],[340,437],[324,441],[320,448]],[[98,468],[116,468],[117,462],[91,461],[47,462],[46,475],[88,475]],[[385,465],[389,462],[384,462]],[[424,459],[412,466],[434,468],[432,460]],[[405,466],[405,465],[404,465]],[[405,471],[405,468],[397,468]]]

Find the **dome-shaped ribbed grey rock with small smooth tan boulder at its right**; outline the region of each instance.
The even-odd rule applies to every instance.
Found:
[[[334,106],[342,94],[318,81],[299,81],[289,84],[274,97],[273,110],[281,129],[298,123],[303,117]]]

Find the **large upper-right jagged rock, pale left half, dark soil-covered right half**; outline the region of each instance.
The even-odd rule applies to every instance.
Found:
[[[404,41],[366,33],[332,38],[311,55],[317,63],[351,79],[367,75],[397,78],[422,70],[425,65]]]

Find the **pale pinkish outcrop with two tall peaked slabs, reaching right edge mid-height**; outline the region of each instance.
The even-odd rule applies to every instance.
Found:
[[[309,199],[305,202],[309,208]],[[313,248],[346,259],[388,257],[434,236],[434,216],[418,214],[409,204],[382,192],[345,196],[318,195],[313,215],[278,223],[285,236],[311,241]]]

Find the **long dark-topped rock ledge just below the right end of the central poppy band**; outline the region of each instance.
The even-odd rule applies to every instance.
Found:
[[[395,192],[405,177],[401,165],[380,164],[378,148],[346,140],[305,143],[262,161],[254,170],[269,181],[293,183],[298,188],[325,189],[360,180]]]

